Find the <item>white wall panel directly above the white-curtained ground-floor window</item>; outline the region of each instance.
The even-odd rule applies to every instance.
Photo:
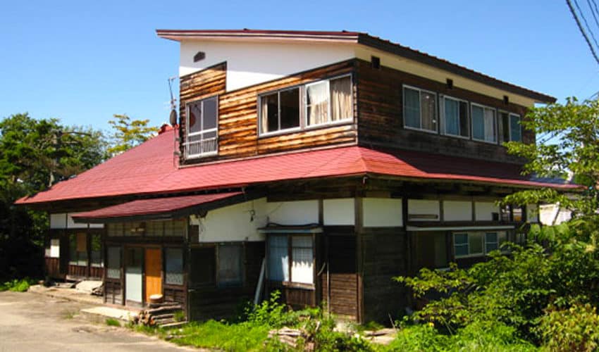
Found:
[[[268,222],[279,225],[319,223],[319,201],[284,201],[266,203]]]

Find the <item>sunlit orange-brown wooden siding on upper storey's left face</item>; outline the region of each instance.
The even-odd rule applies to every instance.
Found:
[[[355,144],[357,137],[354,120],[348,120],[343,124],[307,128],[300,132],[258,136],[259,94],[353,73],[353,70],[354,61],[343,61],[233,92],[225,92],[226,63],[181,77],[180,132],[183,142],[185,142],[186,104],[218,94],[218,156],[193,158],[187,161],[182,157],[182,163],[202,163],[297,149]],[[355,85],[353,95],[355,115],[357,101]],[[183,149],[181,152],[184,155]]]

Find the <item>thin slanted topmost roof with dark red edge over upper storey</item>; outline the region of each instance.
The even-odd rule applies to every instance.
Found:
[[[337,42],[347,44],[362,44],[373,49],[386,51],[390,54],[409,58],[414,61],[431,65],[441,70],[466,77],[490,87],[526,96],[541,103],[554,103],[556,99],[547,94],[535,92],[531,89],[517,86],[495,77],[485,75],[471,68],[457,65],[443,58],[438,58],[409,46],[393,43],[379,37],[374,37],[364,32],[349,31],[304,31],[304,30],[156,30],[159,37],[180,42],[185,39],[209,40],[271,40],[271,41],[312,41],[312,42]]]

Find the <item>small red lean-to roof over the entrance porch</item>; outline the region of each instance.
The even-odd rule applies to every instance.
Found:
[[[73,215],[73,219],[109,219],[126,218],[136,215],[153,215],[161,213],[172,213],[185,208],[199,206],[200,204],[212,203],[239,196],[242,192],[229,192],[217,194],[198,194],[194,196],[175,196],[167,198],[140,199],[128,203],[118,204],[100,208],[98,210],[87,211]]]

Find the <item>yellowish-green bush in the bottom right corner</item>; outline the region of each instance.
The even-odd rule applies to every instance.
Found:
[[[538,333],[551,351],[596,351],[599,347],[599,315],[590,304],[569,309],[548,309]]]

